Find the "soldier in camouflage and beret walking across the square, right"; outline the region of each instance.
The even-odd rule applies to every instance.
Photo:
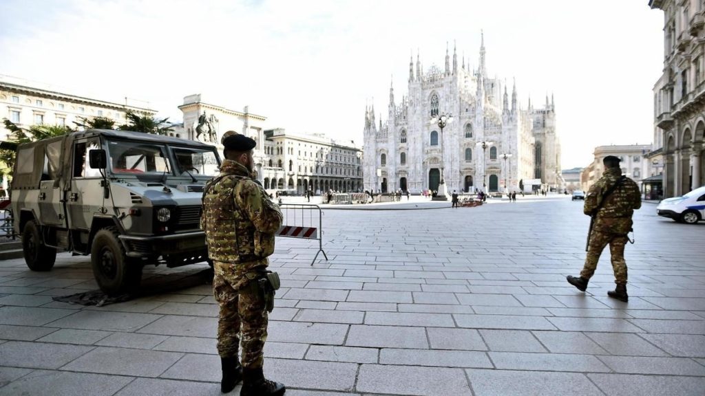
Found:
[[[602,250],[609,244],[617,287],[614,291],[607,292],[607,295],[627,302],[629,296],[624,247],[629,240],[627,234],[632,230],[632,215],[635,209],[642,207],[642,198],[637,183],[622,175],[620,159],[606,156],[603,163],[605,173],[590,187],[583,208],[584,214],[594,216],[585,265],[580,272],[580,278],[568,276],[567,279],[568,283],[585,291],[588,281],[595,273]]]

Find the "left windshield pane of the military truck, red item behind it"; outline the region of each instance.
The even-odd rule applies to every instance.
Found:
[[[108,142],[109,168],[117,175],[171,174],[163,144],[147,142]]]

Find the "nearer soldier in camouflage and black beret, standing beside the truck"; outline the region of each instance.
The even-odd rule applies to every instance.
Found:
[[[233,131],[226,132],[221,142],[225,160],[204,189],[201,218],[220,307],[221,391],[230,392],[242,379],[241,396],[283,395],[284,385],[266,380],[262,373],[268,315],[264,290],[257,282],[269,265],[267,256],[274,252],[274,235],[283,218],[253,178],[256,142]]]

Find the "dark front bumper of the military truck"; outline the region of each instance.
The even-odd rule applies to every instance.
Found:
[[[196,231],[155,237],[119,236],[129,257],[154,257],[206,252],[206,233]]]

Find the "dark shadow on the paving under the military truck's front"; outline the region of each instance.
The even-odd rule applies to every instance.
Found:
[[[54,297],[54,301],[103,307],[104,305],[127,302],[142,297],[178,292],[190,287],[211,285],[212,283],[213,268],[198,268],[190,271],[180,271],[179,273],[145,277],[137,290],[122,295],[109,296],[101,290],[90,290],[74,295]]]

